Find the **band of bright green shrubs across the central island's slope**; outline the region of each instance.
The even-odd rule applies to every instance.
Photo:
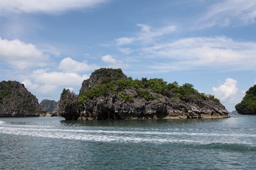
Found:
[[[147,80],[147,78],[142,78],[141,80],[133,80],[133,78],[129,77],[126,79],[112,80],[111,78],[104,77],[100,80],[100,82],[98,82],[96,86],[89,87],[86,91],[79,95],[80,107],[82,107],[82,103],[86,99],[93,99],[94,97],[106,95],[109,92],[117,94],[116,86],[121,87],[121,92],[119,92],[118,95],[123,99],[123,102],[133,102],[134,96],[125,94],[122,91],[126,88],[134,88],[138,97],[142,97],[147,101],[158,99],[157,96],[151,94],[150,90],[152,90],[156,94],[163,96],[168,96],[170,91],[175,92],[175,97],[181,100],[185,95],[189,95],[195,97],[196,99],[208,98],[216,101],[217,103],[220,103],[220,100],[214,98],[213,95],[205,95],[203,93],[199,93],[193,88],[193,85],[189,83],[185,83],[182,86],[179,86],[177,82],[167,83],[163,79],[158,78],[149,80]]]

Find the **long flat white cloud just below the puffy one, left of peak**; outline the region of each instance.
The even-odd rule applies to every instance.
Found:
[[[33,71],[30,78],[34,79],[36,83],[43,83],[54,86],[76,86],[81,85],[82,81],[88,79],[89,76],[79,75],[77,73],[59,73],[59,72],[51,72],[47,73],[46,70],[39,69]]]

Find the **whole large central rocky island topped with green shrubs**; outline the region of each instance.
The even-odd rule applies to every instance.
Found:
[[[64,89],[59,114],[66,120],[229,117],[220,100],[192,84],[127,78],[121,69],[95,70],[79,95]]]

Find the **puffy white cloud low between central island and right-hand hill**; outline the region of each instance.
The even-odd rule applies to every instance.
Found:
[[[237,88],[237,80],[227,78],[225,79],[225,83],[220,87],[213,87],[212,94],[216,96],[222,102],[232,102],[236,100],[236,94],[238,92]]]

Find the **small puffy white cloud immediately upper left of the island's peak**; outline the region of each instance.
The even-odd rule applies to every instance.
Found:
[[[65,70],[67,73],[80,73],[86,72],[90,70],[99,69],[100,66],[93,64],[88,65],[87,61],[78,62],[73,60],[72,58],[64,58],[59,65],[60,70]]]

